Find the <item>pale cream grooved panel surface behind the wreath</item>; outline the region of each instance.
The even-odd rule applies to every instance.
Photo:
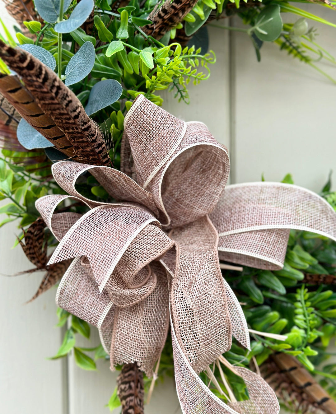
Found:
[[[336,23],[336,12],[314,5],[307,10]],[[2,3],[0,15],[10,24]],[[313,25],[321,33],[318,41],[336,56],[336,29]],[[296,184],[319,191],[330,169],[336,182],[336,86],[273,44],[263,45],[258,63],[242,33],[210,28],[210,48],[217,55],[210,80],[191,87],[189,106],[165,93],[164,107],[184,120],[203,121],[229,148],[231,182],[259,181],[261,173],[280,181],[291,172]],[[336,77],[336,67],[325,70]],[[12,223],[0,229],[1,273],[31,267],[20,248],[11,249],[15,233]],[[116,378],[108,363],[99,361],[98,372],[87,372],[71,356],[46,360],[56,353],[63,332],[53,327],[55,289],[24,305],[41,277],[0,277],[0,412],[106,414]],[[92,335],[92,346],[98,342]],[[181,413],[172,380],[155,389],[146,413]]]

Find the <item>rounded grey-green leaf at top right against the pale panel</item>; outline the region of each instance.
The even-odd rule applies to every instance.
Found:
[[[262,41],[273,42],[278,39],[281,31],[282,19],[280,16],[280,6],[273,4],[264,7],[254,25],[254,33],[256,36]]]

